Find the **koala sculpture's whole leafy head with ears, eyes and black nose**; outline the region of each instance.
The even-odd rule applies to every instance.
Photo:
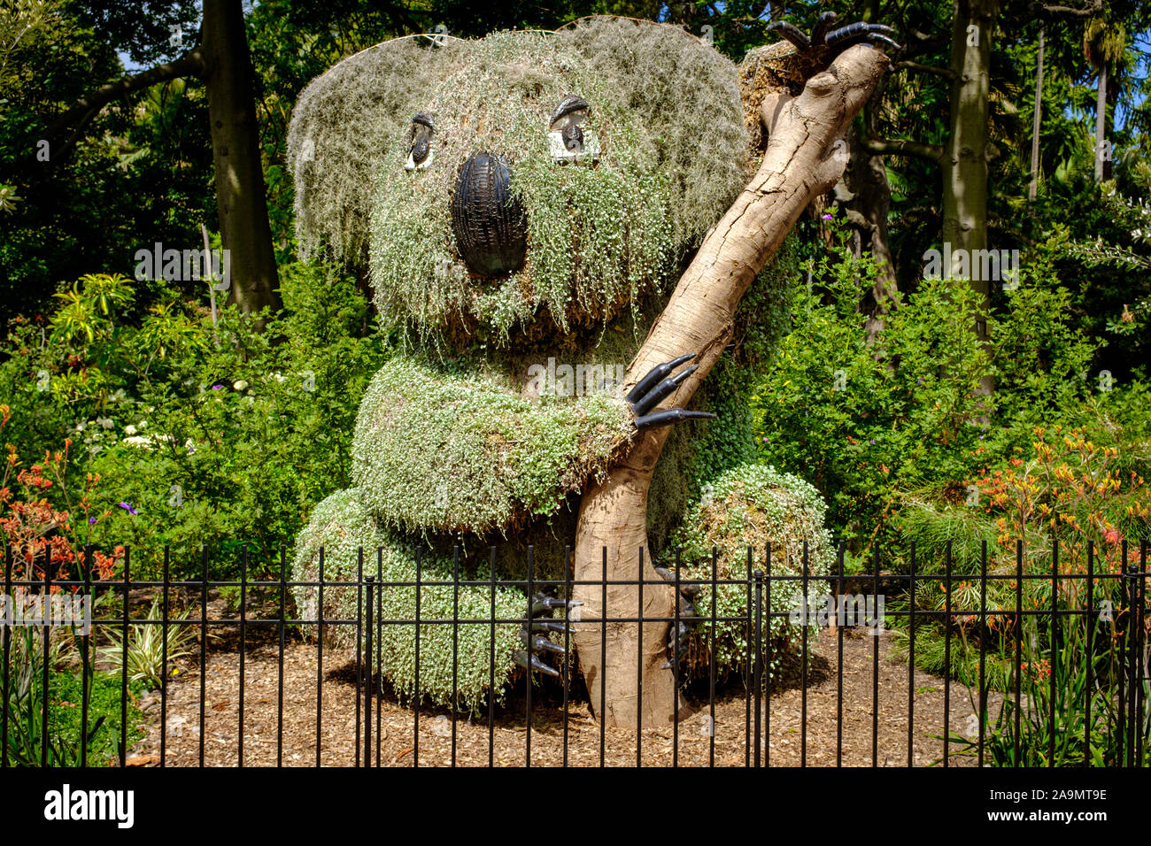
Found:
[[[303,92],[300,251],[367,269],[383,320],[517,344],[668,282],[746,184],[735,66],[674,26],[386,41]]]

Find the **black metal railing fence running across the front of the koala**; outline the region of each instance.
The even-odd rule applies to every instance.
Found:
[[[748,548],[745,572],[725,579],[717,578],[717,554],[712,554],[710,579],[695,581],[708,599],[696,609],[699,619],[688,620],[696,632],[696,671],[688,672],[687,663],[678,662],[671,662],[669,670],[676,674],[676,688],[685,692],[685,712],[677,699],[670,725],[637,723],[634,729],[609,727],[597,719],[607,704],[604,685],[601,700],[590,701],[566,632],[554,635],[556,651],[562,649],[558,678],[541,681],[532,673],[529,681],[528,673],[519,673],[503,688],[502,704],[494,695],[501,688],[497,657],[505,657],[496,655],[495,625],[527,626],[533,596],[570,597],[576,586],[589,584],[573,581],[570,570],[563,580],[535,580],[531,569],[526,580],[494,576],[467,580],[459,578],[457,554],[456,578],[450,581],[425,580],[419,564],[414,580],[387,581],[380,578],[381,570],[372,572],[373,550],[367,550],[366,570],[360,550],[356,579],[326,580],[321,566],[317,581],[300,582],[288,579],[283,550],[277,564],[265,566],[272,578],[250,579],[245,548],[238,579],[209,580],[206,551],[199,578],[173,579],[166,549],[159,579],[132,578],[128,550],[121,578],[93,582],[90,549],[84,552],[83,578],[70,580],[52,578],[48,566],[36,569],[35,562],[14,558],[8,549],[0,615],[0,762],[5,767],[1133,767],[1151,762],[1146,541],[1137,550],[1128,550],[1123,542],[1121,549],[1108,550],[1110,557],[1088,542],[1082,559],[1064,570],[1055,544],[1045,550],[1043,561],[1050,558],[1050,566],[1043,572],[1026,556],[1022,543],[1015,544],[1014,569],[1004,571],[1000,558],[998,571],[990,572],[986,543],[977,561],[958,563],[950,543],[931,561],[917,557],[912,544],[899,558],[906,572],[885,570],[878,551],[863,572],[859,567],[845,572],[840,546],[832,572],[813,573],[803,549],[801,562],[782,566],[777,561],[772,567],[770,548],[759,552]],[[611,624],[640,622],[665,622],[678,630],[683,622],[678,607],[669,617],[643,616],[643,590],[666,589],[669,582],[650,562],[642,563],[642,551],[638,561],[635,580],[595,582],[603,592],[603,607],[609,587],[637,589],[638,615],[585,615],[576,625],[600,626],[601,635]],[[1024,561],[1032,563],[1024,566]],[[1102,566],[1104,561],[1111,564]],[[21,569],[37,578],[14,578]],[[673,572],[676,586],[683,587],[680,570]],[[813,588],[826,590],[826,613],[820,616],[806,605],[773,605],[772,590],[778,593],[788,582],[798,585],[803,597],[811,596]],[[723,586],[746,597],[740,613],[717,616],[716,596]],[[294,612],[291,589],[299,587],[319,594],[314,618],[302,619]],[[420,596],[428,587],[452,588],[457,597],[464,587],[486,588],[493,615],[460,618],[458,603],[450,617],[421,618],[419,605],[416,619],[381,613],[386,592],[414,589]],[[357,593],[355,617],[325,618],[322,595],[333,588]],[[503,588],[524,593],[523,617],[495,617],[496,590]],[[20,592],[24,604],[14,599]],[[228,592],[238,594],[231,611],[220,599]],[[1000,600],[989,603],[989,592]],[[851,608],[844,599],[860,594],[879,597],[872,605],[878,613],[862,620],[867,624],[862,638],[844,610]],[[97,609],[109,613],[94,616],[90,625],[75,616],[62,620],[56,615],[53,620],[47,601],[41,604],[46,617],[37,623],[35,613],[32,619],[18,617],[28,610],[30,596],[96,597]],[[1003,601],[1005,596],[1009,599]],[[139,609],[150,599],[155,612],[142,616]],[[177,612],[176,605],[183,610]],[[772,620],[784,617],[800,624],[791,630],[794,642],[772,634]],[[746,657],[726,669],[716,660],[716,632],[723,623],[739,625],[747,634]],[[460,626],[479,624],[493,627],[486,709],[453,712],[421,704],[419,698],[404,703],[389,691],[380,671],[386,626],[414,627],[417,689],[424,661],[420,632],[451,627],[451,701],[456,701],[458,633]],[[327,627],[355,628],[355,649],[333,654],[322,637]],[[181,649],[175,662],[169,646],[177,630],[195,633],[195,647]],[[600,665],[607,668],[607,639],[601,637],[600,642],[604,645]],[[153,668],[159,668],[153,674],[158,688],[151,693],[143,692],[146,683],[134,680],[142,672],[137,664],[147,663],[136,661],[137,653],[151,654]],[[927,670],[933,668],[933,673],[917,666],[929,653]],[[768,668],[780,658],[785,660],[778,672],[770,673]],[[97,677],[105,680],[105,692],[109,678],[116,681],[114,696],[96,692]],[[70,679],[73,686],[61,679]],[[78,702],[73,701],[77,680]],[[641,717],[639,676],[637,687],[635,712]],[[966,723],[956,726],[968,707]],[[104,739],[98,748],[97,736]]]

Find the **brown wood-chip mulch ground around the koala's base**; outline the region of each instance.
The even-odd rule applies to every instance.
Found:
[[[875,638],[844,630],[843,673],[839,673],[838,633],[823,630],[810,643],[807,686],[801,684],[796,660],[784,668],[770,696],[770,719],[764,717],[762,763],[770,765],[906,767],[908,745],[908,673],[902,661],[890,660],[890,634],[878,639],[878,703],[874,696]],[[168,683],[165,747],[166,765],[235,767],[239,763],[239,661],[235,639],[213,643],[204,668],[204,730],[200,732],[200,669],[185,661]],[[279,643],[274,638],[250,633],[244,662],[244,765],[351,767],[357,763],[357,695],[355,665],[323,656],[322,706],[314,643],[289,642],[283,662],[283,710],[279,702]],[[841,680],[840,680],[841,679]],[[945,685],[939,677],[916,671],[910,687],[914,699],[912,761],[914,765],[939,764],[943,759]],[[975,733],[974,709],[967,687],[950,685],[950,726],[953,732]],[[806,689],[806,696],[805,696]],[[841,692],[841,699],[840,699]],[[548,693],[533,694],[531,732],[525,726],[523,684],[495,714],[489,727],[487,715],[452,717],[444,710],[424,708],[418,725],[413,710],[394,698],[373,696],[372,763],[383,767],[531,765],[559,767],[564,763],[564,711],[562,700]],[[706,696],[693,698],[696,709],[681,715],[679,730],[651,729],[640,738],[640,761],[645,767],[742,767],[754,757],[754,741],[747,740],[746,691],[738,679],[717,691],[715,734],[708,731]],[[573,696],[573,700],[578,698]],[[130,763],[158,765],[160,761],[160,698],[152,692],[140,701],[146,715],[146,737],[131,750]],[[282,732],[280,725],[282,722]],[[376,730],[379,725],[379,730]],[[569,704],[567,759],[570,767],[637,764],[634,731],[601,727],[584,701]],[[754,714],[753,714],[754,726]],[[452,729],[455,727],[455,744]],[[872,734],[872,727],[875,733]],[[754,729],[753,729],[754,731]],[[315,739],[320,744],[317,749]],[[419,738],[418,750],[414,738]],[[754,734],[753,734],[754,737]],[[282,738],[282,746],[280,745]],[[490,753],[489,753],[490,747]],[[678,757],[673,759],[673,748]],[[970,757],[956,756],[950,765],[974,765]],[[203,757],[201,757],[203,756]],[[279,757],[277,757],[279,756]],[[875,756],[875,759],[872,759]]]

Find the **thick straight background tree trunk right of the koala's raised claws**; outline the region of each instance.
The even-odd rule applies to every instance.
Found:
[[[943,158],[943,239],[951,250],[988,246],[988,139],[991,36],[999,16],[999,0],[955,0],[951,30],[951,132]],[[974,279],[971,289],[983,298],[976,321],[980,341],[988,341],[985,314],[990,283]],[[982,380],[992,390],[991,376]]]

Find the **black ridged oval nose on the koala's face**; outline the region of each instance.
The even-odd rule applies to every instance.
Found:
[[[464,162],[451,197],[451,231],[459,254],[478,274],[495,276],[524,266],[527,221],[503,159],[475,153]]]

